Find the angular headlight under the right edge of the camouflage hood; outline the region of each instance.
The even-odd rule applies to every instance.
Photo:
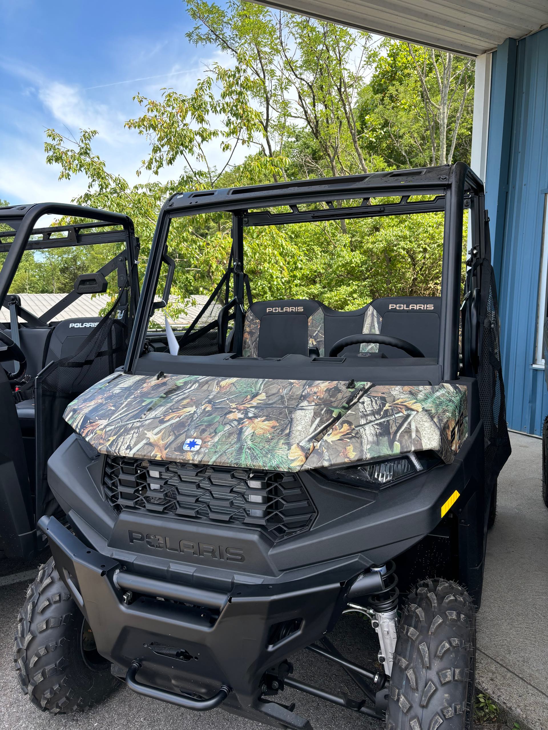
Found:
[[[440,463],[438,457],[427,452],[420,456],[419,459],[415,453],[409,453],[382,461],[369,461],[367,464],[338,467],[330,469],[329,477],[347,484],[382,489]]]

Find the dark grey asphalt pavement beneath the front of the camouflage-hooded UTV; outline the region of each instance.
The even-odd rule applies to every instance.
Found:
[[[172,704],[164,704],[134,694],[125,686],[99,707],[77,715],[48,715],[37,710],[20,691],[13,671],[12,647],[15,619],[25,599],[27,585],[18,583],[0,588],[2,613],[0,618],[0,729],[1,730],[65,730],[80,725],[84,730],[112,729],[164,730],[167,727],[180,730],[261,730],[264,725],[227,715],[223,710],[192,712],[180,710]],[[376,656],[376,635],[370,623],[355,616],[340,621],[332,641],[349,658],[363,666],[373,668],[373,662],[364,656]],[[331,662],[311,653],[302,652],[292,661],[295,677],[335,691],[346,691],[356,696],[354,685],[345,673]],[[286,690],[280,702],[296,702],[296,712],[308,718],[314,730],[381,730],[381,723],[353,712],[342,710],[327,702],[308,695]]]

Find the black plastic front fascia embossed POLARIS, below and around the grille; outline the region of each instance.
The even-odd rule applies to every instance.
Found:
[[[310,529],[273,542],[259,529],[124,509],[117,515],[102,487],[104,456],[72,435],[48,461],[47,479],[76,534],[136,572],[222,585],[294,582],[340,572],[350,580],[396,558],[443,516],[455,491],[458,510],[483,485],[483,431],[464,442],[452,464],[382,491],[335,483],[320,472],[301,475],[317,516]],[[227,552],[227,546],[230,548]],[[222,548],[222,550],[221,550]],[[129,567],[129,565],[128,565]],[[183,578],[184,579],[184,578]]]

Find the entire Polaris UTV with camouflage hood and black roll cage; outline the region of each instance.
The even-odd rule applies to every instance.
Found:
[[[218,212],[232,216],[227,271],[170,352],[147,351],[170,224]],[[441,296],[352,312],[252,301],[246,229],[428,212],[444,212]],[[126,363],[69,404],[75,433],[49,460],[72,529],[40,520],[53,558],[19,618],[16,669],[37,707],[85,709],[118,677],[279,729],[311,728],[285,688],[388,729],[471,727],[487,520],[509,456],[487,220],[461,163],[164,204]],[[347,612],[378,636],[369,668],[328,637]],[[304,648],[356,694],[294,676]]]

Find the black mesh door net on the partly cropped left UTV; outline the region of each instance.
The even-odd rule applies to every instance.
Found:
[[[63,420],[70,401],[121,365],[126,358],[133,318],[130,277],[113,306],[79,350],[53,362],[36,378],[37,518],[56,510],[47,488],[47,459],[72,433]]]

